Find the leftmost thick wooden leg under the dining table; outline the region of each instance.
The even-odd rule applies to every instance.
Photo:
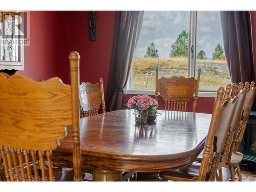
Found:
[[[122,179],[122,172],[93,168],[93,181],[115,181]]]

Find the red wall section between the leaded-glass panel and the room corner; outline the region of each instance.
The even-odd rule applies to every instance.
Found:
[[[67,21],[67,11],[30,11],[30,46],[25,46],[25,70],[17,73],[35,80],[58,76],[68,82]]]

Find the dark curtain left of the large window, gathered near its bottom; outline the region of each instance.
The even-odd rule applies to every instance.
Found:
[[[141,30],[143,11],[117,11],[106,110],[123,108],[123,89],[129,77],[133,53]]]

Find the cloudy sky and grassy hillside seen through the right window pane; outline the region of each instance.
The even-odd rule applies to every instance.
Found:
[[[196,68],[202,69],[200,90],[217,90],[230,83],[220,21],[220,11],[197,12]]]

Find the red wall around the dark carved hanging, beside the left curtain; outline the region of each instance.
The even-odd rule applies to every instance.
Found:
[[[89,40],[88,11],[69,12],[69,52],[78,51],[80,82],[99,82],[103,78],[106,96],[112,44],[115,29],[115,11],[97,11],[97,40]]]

